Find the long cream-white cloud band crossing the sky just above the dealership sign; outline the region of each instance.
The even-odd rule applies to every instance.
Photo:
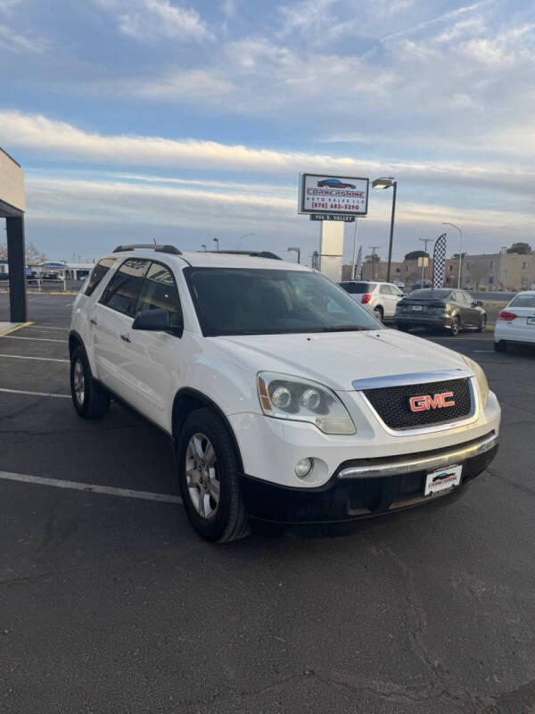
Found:
[[[34,154],[70,161],[122,166],[161,166],[189,169],[245,171],[296,176],[300,170],[338,172],[342,175],[379,175],[443,185],[498,188],[523,195],[535,190],[535,173],[509,163],[445,161],[357,160],[350,156],[276,151],[245,145],[226,145],[197,139],[105,136],[77,129],[42,115],[0,111],[0,141],[5,146],[29,149]]]

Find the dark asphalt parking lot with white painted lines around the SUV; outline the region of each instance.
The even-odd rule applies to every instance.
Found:
[[[535,711],[535,351],[431,338],[479,361],[503,409],[462,498],[213,545],[166,436],[116,404],[75,414],[72,300],[30,295],[34,324],[0,337],[4,714]]]

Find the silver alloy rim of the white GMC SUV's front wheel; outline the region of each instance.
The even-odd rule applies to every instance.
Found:
[[[218,510],[221,485],[216,452],[205,434],[193,434],[187,444],[185,478],[193,508],[203,519],[211,519]]]

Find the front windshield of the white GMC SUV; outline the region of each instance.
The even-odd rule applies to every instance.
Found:
[[[304,270],[186,268],[204,336],[380,329],[338,286]]]

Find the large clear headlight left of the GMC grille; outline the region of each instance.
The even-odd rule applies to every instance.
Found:
[[[326,386],[274,372],[259,372],[257,385],[267,417],[309,421],[324,434],[355,434],[348,411]]]

